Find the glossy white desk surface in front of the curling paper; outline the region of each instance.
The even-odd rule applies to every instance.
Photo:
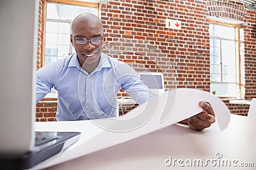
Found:
[[[255,129],[255,118],[238,115],[232,115],[224,131],[216,124],[202,132],[174,124],[48,169],[198,169],[189,167],[189,161],[198,159],[203,164],[207,162],[207,166],[199,169],[255,169]],[[179,159],[184,167],[175,162]]]

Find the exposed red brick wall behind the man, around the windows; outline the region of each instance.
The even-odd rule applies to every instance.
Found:
[[[223,8],[223,6],[225,6]],[[161,0],[111,0],[101,6],[106,41],[120,38],[140,39],[156,46],[164,53],[177,71],[178,88],[195,88],[210,91],[209,20],[212,17],[228,17],[246,22],[244,29],[244,67],[246,99],[256,97],[256,12],[241,3],[220,1],[161,1]],[[182,29],[165,28],[165,19],[178,19]],[[243,49],[242,49],[243,50]],[[156,70],[156,64],[140,56],[120,56],[132,66],[143,64]],[[40,57],[38,63],[40,64]],[[39,65],[38,64],[38,65]],[[137,65],[136,65],[137,64]],[[138,67],[136,68],[138,69]],[[167,89],[173,87],[170,67],[161,68]],[[229,104],[232,113],[246,115],[248,106]],[[44,106],[41,106],[44,108]],[[49,111],[52,113],[51,111]],[[38,112],[41,114],[42,112]],[[45,120],[45,119],[44,119]]]

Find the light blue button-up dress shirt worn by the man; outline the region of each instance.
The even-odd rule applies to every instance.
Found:
[[[138,104],[156,96],[128,64],[104,53],[91,74],[82,69],[76,53],[36,71],[36,103],[52,87],[58,91],[58,121],[115,117],[120,88]]]

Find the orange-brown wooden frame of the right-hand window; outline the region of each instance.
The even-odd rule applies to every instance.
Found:
[[[227,24],[227,23],[224,23],[224,22],[216,21],[216,20],[209,20],[209,24],[218,24],[218,25],[223,25],[223,26],[227,26],[227,27],[235,27],[235,31],[237,30],[237,33],[235,34],[235,36],[237,36],[237,38],[235,37],[235,45],[237,43],[237,49],[236,49],[236,52],[235,52],[236,53],[236,60],[237,60],[236,85],[238,85],[239,92],[241,92],[242,83],[241,83],[241,55],[240,55],[240,48],[241,48],[240,25],[239,24]],[[211,36],[209,36],[209,38],[211,38]],[[212,81],[210,81],[210,83],[212,83]],[[230,96],[225,96],[225,97],[230,97]]]

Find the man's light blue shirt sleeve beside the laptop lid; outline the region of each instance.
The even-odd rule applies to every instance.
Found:
[[[51,92],[58,70],[54,67],[54,62],[51,62],[38,71],[36,71],[36,103],[44,98],[46,94]]]

